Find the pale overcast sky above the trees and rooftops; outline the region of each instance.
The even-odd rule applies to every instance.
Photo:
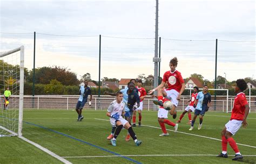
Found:
[[[0,50],[24,45],[29,69],[36,31],[36,67],[68,67],[78,78],[90,73],[98,80],[101,34],[102,78],[154,74],[156,1],[1,0],[0,5]],[[228,81],[255,79],[255,1],[159,0],[159,37],[161,76],[170,69],[170,59],[177,56],[177,70],[184,78],[197,73],[212,81],[218,39],[217,74],[225,77],[226,73]]]

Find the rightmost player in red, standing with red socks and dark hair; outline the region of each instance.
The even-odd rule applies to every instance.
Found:
[[[232,138],[235,133],[240,129],[240,127],[246,127],[246,118],[248,116],[250,107],[246,101],[244,90],[247,88],[247,84],[244,79],[238,79],[236,81],[237,86],[235,87],[234,106],[231,113],[230,121],[225,125],[223,131],[221,131],[222,138],[222,152],[217,157],[227,158],[227,142],[230,144],[235,152],[235,157],[232,159],[234,161],[242,159],[242,155],[239,152],[237,143]]]

